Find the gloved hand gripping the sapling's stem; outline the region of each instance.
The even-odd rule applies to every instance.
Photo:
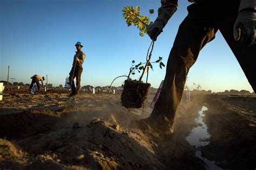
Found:
[[[147,26],[147,34],[153,41],[157,40],[157,37],[163,32],[164,22],[163,20],[155,20],[153,24]]]

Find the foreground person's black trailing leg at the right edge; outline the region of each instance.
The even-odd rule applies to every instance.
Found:
[[[228,46],[230,46],[237,58],[248,82],[251,84],[254,92],[256,92],[256,45],[254,44],[251,47],[247,47],[235,41],[233,36],[233,25],[238,16],[238,7],[239,2],[232,3],[232,5],[229,6],[231,10],[219,10],[222,15],[218,17],[217,23],[221,34],[223,34]]]

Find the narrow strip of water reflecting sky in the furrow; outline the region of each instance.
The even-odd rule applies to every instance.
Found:
[[[196,147],[196,157],[205,162],[206,169],[222,169],[215,165],[215,161],[211,161],[202,157],[200,150],[201,146],[210,144],[210,141],[207,139],[210,138],[211,134],[208,133],[207,125],[203,121],[203,117],[205,116],[204,111],[206,110],[208,110],[207,107],[203,106],[198,112],[199,116],[195,119],[196,123],[198,123],[198,126],[191,130],[191,133],[186,137],[186,140],[188,143],[190,143],[190,145]]]

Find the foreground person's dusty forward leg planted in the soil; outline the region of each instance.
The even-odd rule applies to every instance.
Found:
[[[174,116],[183,95],[188,70],[197,60],[200,50],[217,32],[211,20],[205,6],[188,6],[188,16],[179,26],[167,61],[163,88],[150,116],[150,119],[157,120],[158,129],[173,131]]]

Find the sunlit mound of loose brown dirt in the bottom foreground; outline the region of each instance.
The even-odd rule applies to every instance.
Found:
[[[150,140],[140,131],[130,132],[98,118],[87,126],[75,124],[69,129],[38,134],[18,144],[31,154],[55,153],[57,157],[53,160],[64,165],[92,169],[166,168],[154,155],[156,144],[149,143]]]

